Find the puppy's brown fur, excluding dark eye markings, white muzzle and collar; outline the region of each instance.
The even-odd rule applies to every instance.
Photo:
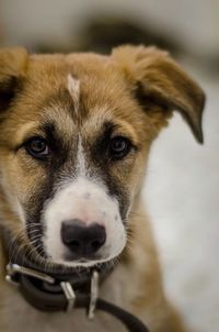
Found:
[[[78,118],[66,90],[68,73],[81,81]],[[73,146],[77,128],[92,142],[106,119],[115,121],[117,134],[128,133],[138,153],[123,161],[120,167],[114,165],[111,169],[117,182],[131,191],[134,203],[129,214],[129,243],[115,272],[103,285],[102,294],[137,314],[153,332],[183,332],[185,328],[165,299],[153,235],[140,208],[145,164],[151,142],[175,109],[186,119],[197,140],[203,141],[204,99],[200,88],[169,55],[153,47],[122,46],[111,56],[27,55],[23,48],[0,51],[1,223],[15,234],[23,233],[15,200],[25,202],[32,192],[41,195],[45,168],[18,148],[30,134],[42,134],[41,123],[48,119],[55,121],[66,144]],[[72,109],[70,113],[69,109]],[[38,313],[5,284],[5,257],[1,253],[0,331],[71,331],[71,317]],[[21,303],[22,317],[18,318],[13,299]],[[72,319],[73,331],[93,331],[92,327],[83,325],[87,324],[83,318],[72,314]],[[97,328],[103,331],[101,323],[102,318]],[[24,327],[28,327],[27,330]],[[104,323],[104,327],[106,331],[114,329],[111,324]]]

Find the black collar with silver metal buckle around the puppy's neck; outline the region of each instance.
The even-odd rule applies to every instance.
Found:
[[[3,230],[3,244],[8,253],[7,280],[16,284],[26,301],[42,311],[66,311],[84,308],[88,317],[93,318],[95,310],[103,310],[120,320],[129,332],[149,332],[147,327],[124,309],[97,297],[99,276],[103,281],[112,268],[100,266],[94,269],[45,269],[41,263],[30,261],[24,252],[10,255],[12,236]],[[108,265],[107,265],[108,266]]]

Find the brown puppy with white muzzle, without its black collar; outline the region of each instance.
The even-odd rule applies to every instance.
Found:
[[[1,332],[127,331],[99,311],[90,321],[84,309],[34,308],[5,280],[18,256],[48,275],[110,270],[101,298],[152,332],[187,331],[163,290],[140,191],[150,146],[173,111],[203,143],[204,104],[201,88],[157,47],[0,51]]]

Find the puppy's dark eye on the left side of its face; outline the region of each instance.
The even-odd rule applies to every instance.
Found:
[[[49,154],[49,148],[45,139],[32,137],[25,144],[28,154],[36,158],[44,158]]]

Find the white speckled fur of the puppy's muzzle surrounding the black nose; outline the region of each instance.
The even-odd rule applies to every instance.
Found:
[[[106,242],[100,248],[101,259],[88,263],[65,262],[67,247],[61,242],[61,223],[80,219],[87,224],[93,222],[105,226]],[[118,202],[110,197],[105,187],[85,177],[79,177],[60,189],[44,210],[46,225],[44,244],[54,263],[70,266],[90,266],[106,262],[120,254],[126,244],[126,233],[120,220]]]

